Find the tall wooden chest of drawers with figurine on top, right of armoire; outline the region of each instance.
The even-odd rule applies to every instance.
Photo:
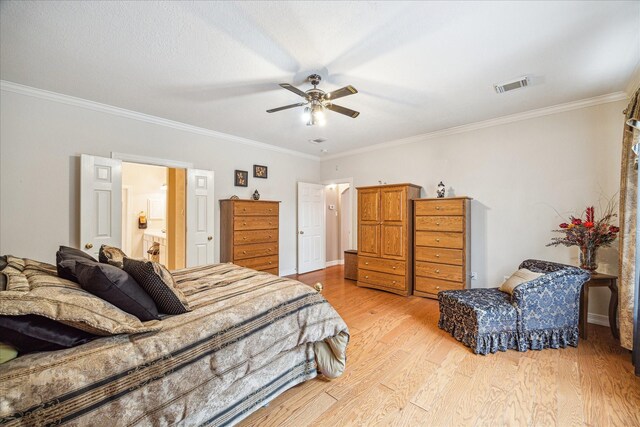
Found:
[[[437,298],[439,291],[469,287],[470,201],[414,200],[414,295]]]

